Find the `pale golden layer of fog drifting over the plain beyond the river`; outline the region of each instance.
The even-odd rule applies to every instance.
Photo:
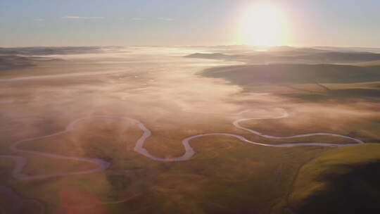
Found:
[[[0,78],[1,149],[7,153],[12,141],[63,130],[71,121],[91,115],[141,120],[153,130],[152,139],[160,134],[155,129],[173,130],[170,136],[178,146],[182,137],[189,137],[177,137],[178,130],[189,135],[206,132],[204,127],[207,132],[236,132],[231,125],[234,113],[248,108],[286,108],[289,118],[302,114],[305,120],[286,122],[295,130],[315,121],[305,115],[320,113],[329,120],[317,131],[338,134],[346,132],[352,122],[376,115],[374,103],[368,103],[370,108],[357,103],[299,103],[272,92],[242,93],[242,86],[228,80],[197,75],[207,68],[241,62],[182,57],[207,49],[129,47],[115,52],[54,54],[46,56],[62,61],[12,70],[15,76]]]

